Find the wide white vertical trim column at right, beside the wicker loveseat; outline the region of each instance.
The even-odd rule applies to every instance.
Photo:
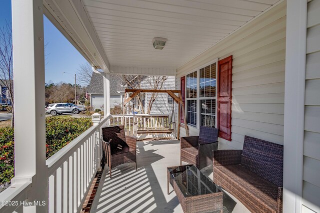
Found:
[[[302,212],[306,0],[288,0],[283,135],[283,213]]]

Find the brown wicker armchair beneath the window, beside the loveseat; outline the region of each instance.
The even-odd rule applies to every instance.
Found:
[[[193,164],[199,170],[212,164],[212,151],[218,149],[218,129],[200,127],[199,136],[181,137],[181,161]]]

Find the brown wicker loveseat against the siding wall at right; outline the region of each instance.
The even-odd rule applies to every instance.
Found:
[[[281,213],[283,146],[245,136],[243,150],[213,151],[213,182],[251,212]]]

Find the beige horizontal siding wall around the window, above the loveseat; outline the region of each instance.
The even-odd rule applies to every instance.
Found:
[[[282,1],[177,69],[180,89],[181,76],[233,56],[231,141],[219,138],[219,149],[242,149],[244,135],[283,144],[285,27]],[[198,132],[189,126],[189,135]]]

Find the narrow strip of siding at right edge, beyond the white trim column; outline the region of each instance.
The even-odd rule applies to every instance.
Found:
[[[320,0],[308,2],[302,212],[320,212]]]

